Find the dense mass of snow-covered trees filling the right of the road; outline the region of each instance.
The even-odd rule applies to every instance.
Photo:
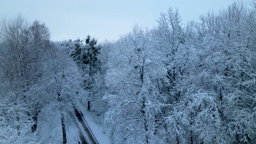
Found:
[[[254,143],[255,14],[233,3],[184,26],[170,8],[115,42],[103,98],[112,142]]]

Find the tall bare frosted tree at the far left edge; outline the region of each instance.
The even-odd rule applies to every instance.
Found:
[[[0,25],[0,41],[3,44],[0,98],[4,100],[0,102],[3,106],[0,115],[4,119],[0,121],[0,123],[3,122],[0,127],[3,127],[1,128],[3,131],[7,130],[6,133],[1,133],[1,136],[7,141],[16,136],[16,140],[10,140],[16,141],[15,143],[28,142],[27,127],[32,124],[29,109],[32,103],[32,93],[28,87],[31,79],[28,27],[26,19],[21,15],[14,19],[5,19]]]

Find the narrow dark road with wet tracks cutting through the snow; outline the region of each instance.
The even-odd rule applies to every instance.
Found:
[[[81,144],[98,144],[94,134],[92,134],[91,129],[89,128],[88,124],[86,123],[83,117],[83,113],[75,109],[75,116],[77,116],[78,121],[80,122],[80,124],[82,124],[86,133],[84,135],[82,131],[79,130],[79,138],[80,138],[80,141],[82,142]]]

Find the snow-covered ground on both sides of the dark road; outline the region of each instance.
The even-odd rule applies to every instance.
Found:
[[[98,121],[97,117],[86,111],[83,106],[80,106],[80,110],[83,112],[84,119],[88,123],[92,133],[96,137],[98,143],[109,144],[109,138],[103,127],[100,124],[96,124]],[[77,121],[77,119],[67,118],[66,121]],[[78,121],[77,121],[78,122]],[[101,123],[101,122],[100,122]],[[79,128],[83,130],[83,127],[76,122],[66,122],[67,132],[67,143],[76,144],[79,141]],[[83,131],[84,132],[84,131]],[[37,125],[37,142],[36,143],[48,143],[48,144],[59,144],[62,143],[62,127],[60,112],[55,111],[53,113],[49,110],[43,109],[38,113],[38,125]]]

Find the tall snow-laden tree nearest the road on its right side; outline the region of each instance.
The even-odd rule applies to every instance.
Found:
[[[115,125],[114,142],[154,141],[158,125],[155,115],[160,111],[160,99],[164,99],[158,79],[165,79],[165,74],[152,52],[151,36],[149,31],[133,27],[132,32],[117,42],[109,59],[106,77],[109,94],[104,99],[110,105],[106,121]]]

